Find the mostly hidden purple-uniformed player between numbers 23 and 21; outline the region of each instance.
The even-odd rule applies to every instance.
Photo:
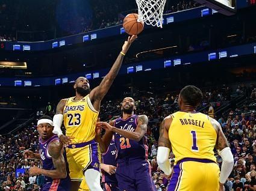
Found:
[[[119,191],[116,180],[116,145],[111,140],[107,152],[102,154],[101,172],[104,191]]]

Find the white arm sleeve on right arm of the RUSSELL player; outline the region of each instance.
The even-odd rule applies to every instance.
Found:
[[[229,147],[223,148],[223,150],[219,152],[219,155],[222,157],[219,181],[220,183],[224,184],[226,182],[226,178],[228,178],[233,169],[234,159]]]

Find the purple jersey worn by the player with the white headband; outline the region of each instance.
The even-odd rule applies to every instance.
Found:
[[[54,168],[54,163],[52,162],[52,157],[49,155],[49,152],[48,152],[49,144],[52,141],[55,141],[55,140],[60,141],[60,139],[58,138],[57,135],[52,136],[47,141],[43,141],[41,138],[39,138],[39,148],[40,148],[39,154],[40,154],[40,157],[42,159],[43,169],[46,169],[46,170],[54,170],[55,169]],[[64,151],[63,155],[64,155],[64,159],[65,159],[65,162],[66,162],[67,178],[68,178],[69,177],[69,166],[67,164],[67,157],[66,157],[66,152],[65,151]],[[49,181],[52,181],[52,178],[51,177],[45,177],[45,182],[49,182]]]

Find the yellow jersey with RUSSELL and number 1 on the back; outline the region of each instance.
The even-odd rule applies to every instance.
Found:
[[[175,163],[187,157],[216,162],[213,149],[217,132],[211,124],[210,117],[199,112],[176,112],[171,116],[169,139]]]

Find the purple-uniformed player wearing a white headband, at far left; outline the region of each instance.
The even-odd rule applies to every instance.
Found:
[[[43,169],[36,166],[29,170],[30,175],[45,175],[45,184],[43,191],[69,191],[70,178],[66,153],[64,153],[63,145],[58,136],[52,133],[52,118],[43,116],[37,122],[37,130],[39,132],[39,148],[40,154],[32,151],[25,151],[23,154],[27,159],[41,159]]]

